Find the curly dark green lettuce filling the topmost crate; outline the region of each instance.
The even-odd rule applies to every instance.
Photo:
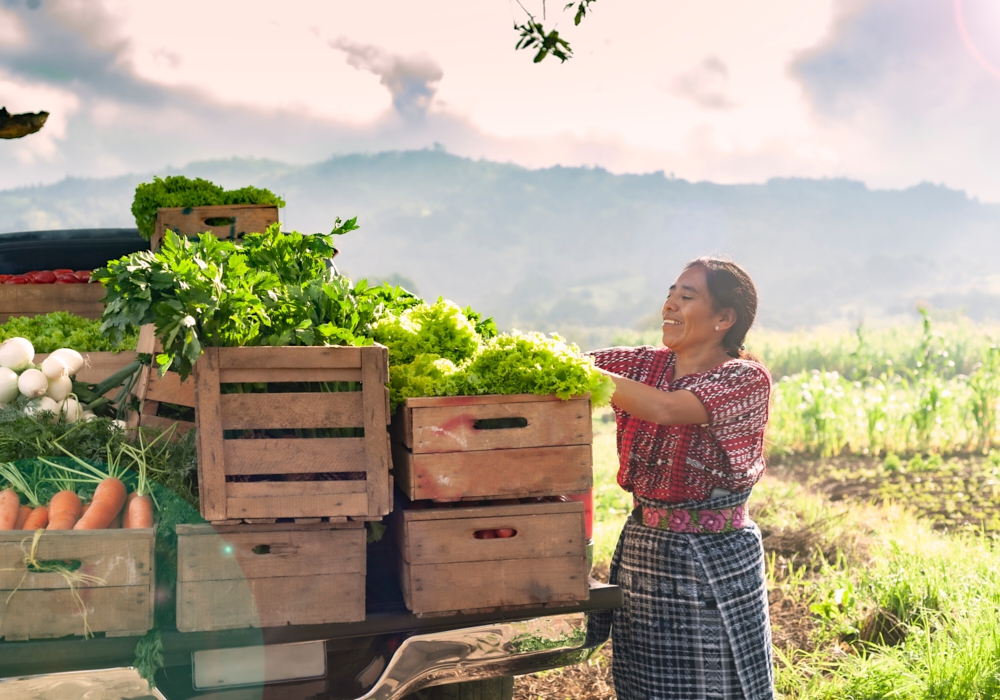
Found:
[[[139,233],[151,238],[156,230],[156,211],[164,207],[202,207],[213,204],[275,204],[285,206],[285,201],[270,190],[242,187],[226,190],[216,184],[183,175],[154,177],[152,182],[140,183],[132,200],[132,215]]]

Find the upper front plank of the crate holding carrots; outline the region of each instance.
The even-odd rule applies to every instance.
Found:
[[[0,533],[0,591],[15,588],[68,588],[57,573],[28,573],[25,556],[31,551],[34,532]],[[103,579],[103,584],[81,583],[80,588],[152,585],[152,528],[136,530],[46,531],[38,540],[38,561],[79,561],[80,570]]]

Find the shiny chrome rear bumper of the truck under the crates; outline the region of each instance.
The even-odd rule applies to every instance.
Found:
[[[587,643],[584,613],[418,634],[400,644],[388,662],[369,667],[372,688],[357,700],[399,700],[431,685],[519,676],[581,663],[605,641]],[[0,679],[0,697],[168,700],[150,690],[134,668]]]

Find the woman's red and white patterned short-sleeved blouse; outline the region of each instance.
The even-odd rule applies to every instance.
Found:
[[[764,428],[771,375],[750,360],[674,381],[669,348],[608,348],[591,355],[598,367],[663,391],[686,389],[709,415],[705,425],[659,425],[615,407],[618,484],[666,503],[704,501],[713,489],[746,491],[764,473]]]

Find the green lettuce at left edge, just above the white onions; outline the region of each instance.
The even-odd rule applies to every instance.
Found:
[[[36,353],[48,353],[59,348],[77,352],[123,352],[135,350],[138,333],[124,333],[116,343],[101,332],[101,322],[67,311],[53,311],[28,318],[8,319],[0,325],[0,343],[8,338],[27,338]]]

